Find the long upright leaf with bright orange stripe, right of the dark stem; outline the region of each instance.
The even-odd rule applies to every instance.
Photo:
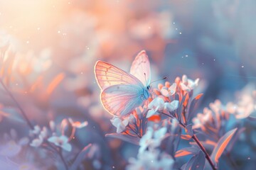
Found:
[[[216,147],[213,149],[213,153],[210,156],[215,164],[218,164],[218,159],[220,158],[221,154],[223,154],[233,135],[235,135],[236,130],[238,130],[238,128],[230,130],[225,135],[223,135],[223,137],[220,137],[220,140],[218,141]]]

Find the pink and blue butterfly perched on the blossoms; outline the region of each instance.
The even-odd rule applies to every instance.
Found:
[[[151,72],[149,57],[142,50],[132,62],[130,72],[97,61],[95,78],[100,86],[102,106],[112,115],[122,117],[149,98]]]

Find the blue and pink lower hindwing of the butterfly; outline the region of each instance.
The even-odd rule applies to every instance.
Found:
[[[144,99],[144,89],[138,85],[113,85],[104,89],[101,101],[104,108],[112,115],[124,116],[140,106]]]

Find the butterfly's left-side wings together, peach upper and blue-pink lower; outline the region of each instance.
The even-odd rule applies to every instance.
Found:
[[[143,95],[148,96],[145,86],[137,77],[107,62],[96,62],[95,77],[102,89],[102,105],[112,115],[131,113],[146,99]]]

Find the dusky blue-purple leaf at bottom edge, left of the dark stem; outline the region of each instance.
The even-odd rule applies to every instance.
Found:
[[[189,161],[181,167],[183,170],[203,170],[206,164],[206,157],[201,150],[199,150],[198,154],[193,156]]]

